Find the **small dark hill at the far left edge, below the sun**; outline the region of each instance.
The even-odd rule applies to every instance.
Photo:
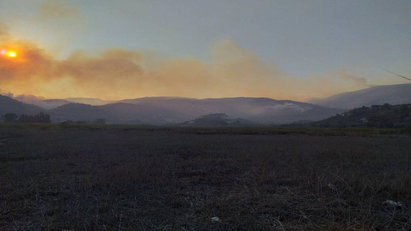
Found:
[[[17,115],[21,114],[38,114],[39,112],[46,112],[44,108],[32,104],[25,104],[20,101],[11,99],[5,95],[0,94],[0,115],[12,112]]]

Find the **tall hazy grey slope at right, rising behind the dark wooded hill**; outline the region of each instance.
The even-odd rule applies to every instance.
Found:
[[[411,103],[411,84],[375,86],[332,95],[324,99],[313,99],[309,103],[337,108],[355,108],[385,103],[408,104]]]

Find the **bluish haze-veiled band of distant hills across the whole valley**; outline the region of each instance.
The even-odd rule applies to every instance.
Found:
[[[27,98],[15,98],[27,99]],[[94,121],[104,118],[116,124],[179,124],[201,115],[226,113],[231,119],[248,120],[251,124],[287,124],[319,121],[348,109],[383,104],[411,102],[411,84],[375,86],[346,92],[310,103],[269,98],[192,99],[181,97],[145,97],[120,101],[91,98],[29,98],[29,103],[2,97],[0,112],[39,113],[46,111],[53,122]],[[34,100],[33,100],[34,99]],[[313,104],[311,104],[313,103]],[[320,106],[321,105],[321,106]]]

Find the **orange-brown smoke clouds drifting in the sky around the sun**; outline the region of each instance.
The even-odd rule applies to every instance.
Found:
[[[55,34],[61,28],[70,31],[71,25],[80,25],[71,30],[76,31],[84,25],[81,11],[61,0],[43,1],[33,18]],[[56,59],[51,55],[53,47],[46,51],[33,42],[14,40],[0,22],[0,47],[18,53],[15,59],[0,56],[0,87],[27,103],[42,102],[33,95],[49,99],[241,96],[303,101],[370,86],[345,70],[293,78],[232,40],[215,43],[210,62],[115,48],[99,54],[75,51]]]

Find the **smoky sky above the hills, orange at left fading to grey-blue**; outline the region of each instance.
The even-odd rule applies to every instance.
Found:
[[[409,83],[411,1],[0,0],[0,89],[305,101]]]

